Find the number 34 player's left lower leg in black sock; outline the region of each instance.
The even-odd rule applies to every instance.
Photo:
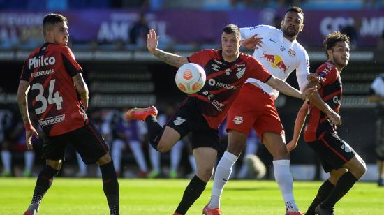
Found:
[[[52,185],[53,179],[59,172],[62,165],[61,160],[47,160],[46,163],[47,165],[45,168],[43,168],[43,170],[41,170],[38,174],[31,205],[29,205],[27,211],[24,212],[24,215],[37,214],[41,200],[43,200],[45,193],[47,193],[48,189]]]

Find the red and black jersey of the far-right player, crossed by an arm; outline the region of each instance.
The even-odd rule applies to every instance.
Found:
[[[326,78],[325,82],[321,84],[321,89],[318,90],[318,93],[323,98],[323,101],[338,113],[341,107],[342,93],[339,71],[332,62],[327,61],[317,69],[316,74]],[[336,130],[325,113],[315,105],[310,104],[309,122],[304,131],[305,142],[318,140],[322,138],[325,132],[336,133]]]

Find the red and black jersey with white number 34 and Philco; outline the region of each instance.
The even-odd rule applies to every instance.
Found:
[[[29,82],[29,117],[46,135],[68,133],[87,124],[71,77],[82,71],[69,47],[45,43],[24,62],[20,80]]]

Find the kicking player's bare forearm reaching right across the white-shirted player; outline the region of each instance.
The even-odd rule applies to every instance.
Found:
[[[302,100],[306,99],[307,97],[311,96],[314,91],[316,91],[317,87],[311,87],[307,88],[301,93],[297,89],[290,86],[290,84],[287,84],[287,82],[281,80],[279,77],[274,77],[272,75],[271,78],[267,81],[269,86],[273,87],[274,89],[281,91],[283,94],[286,94],[287,96],[292,96],[295,98],[300,98]]]

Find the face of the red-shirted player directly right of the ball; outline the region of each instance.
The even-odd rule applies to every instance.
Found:
[[[226,58],[226,61],[228,59],[237,59],[240,50],[240,38],[235,33],[227,34],[223,32],[221,35],[221,48],[223,49],[223,57]]]

